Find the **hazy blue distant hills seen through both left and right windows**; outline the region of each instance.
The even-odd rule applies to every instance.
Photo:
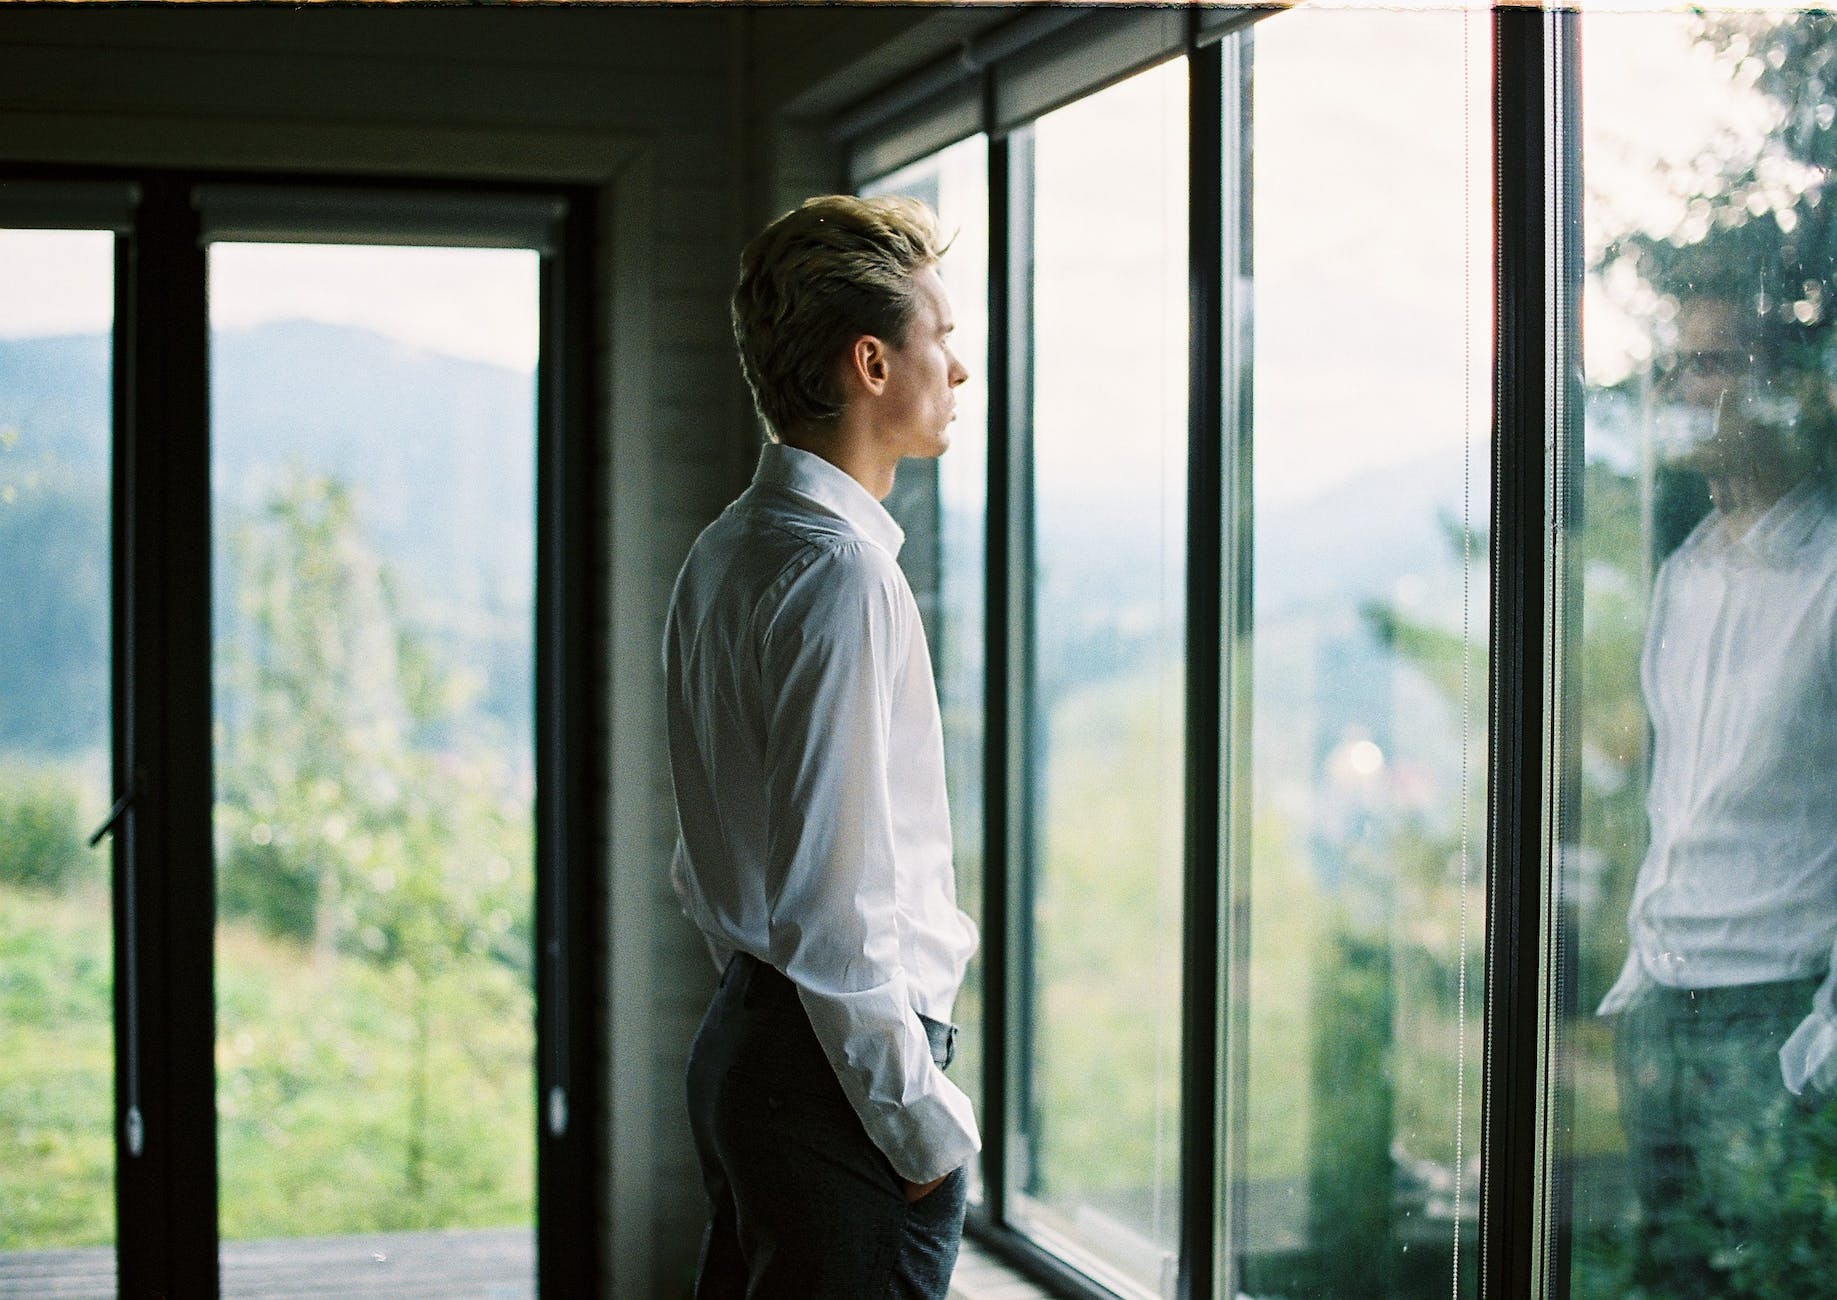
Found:
[[[520,611],[533,580],[531,376],[310,321],[220,332],[211,375],[215,527],[235,529],[288,466],[356,485],[364,525],[391,556],[417,621],[450,659],[485,668],[485,707],[527,734]],[[39,472],[31,499],[0,510],[0,745],[92,712],[73,700],[105,681],[107,556],[85,538],[99,540],[107,520],[107,391],[105,336],[0,340],[0,431],[18,433],[0,446],[0,483]],[[1385,663],[1356,622],[1359,604],[1394,599],[1409,580],[1424,600],[1418,617],[1459,622],[1459,562],[1442,520],[1459,514],[1460,499],[1459,461],[1442,457],[1266,512],[1255,564],[1260,630],[1282,628],[1295,646],[1332,641],[1334,676],[1358,679]],[[1178,639],[1157,613],[1166,595],[1179,599],[1181,580],[1166,569],[1161,531],[1143,527],[1161,509],[1110,496],[1043,512],[1049,681],[1130,672],[1157,637]],[[1484,518],[1482,498],[1473,509]],[[1484,610],[1484,589],[1475,599]],[[1326,652],[1310,648],[1302,661],[1317,654]]]

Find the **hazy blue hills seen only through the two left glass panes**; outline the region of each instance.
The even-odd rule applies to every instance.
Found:
[[[94,714],[86,696],[105,681],[108,375],[107,336],[0,340],[0,483],[15,488],[0,514],[0,593],[13,597],[0,615],[0,745],[50,738],[42,723],[61,712]],[[222,534],[290,468],[355,485],[417,621],[448,657],[487,668],[485,707],[527,734],[533,376],[338,325],[222,331],[211,444]],[[50,698],[48,679],[72,698]]]

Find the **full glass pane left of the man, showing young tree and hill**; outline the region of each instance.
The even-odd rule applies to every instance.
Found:
[[[224,1289],[527,1294],[536,255],[217,244],[209,288]]]

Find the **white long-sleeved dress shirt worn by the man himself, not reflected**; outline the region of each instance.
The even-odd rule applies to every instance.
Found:
[[[671,878],[718,966],[744,951],[797,984],[869,1137],[930,1182],[981,1146],[918,1021],[950,1019],[977,935],[904,540],[867,488],[783,444],[696,540],[663,639]]]

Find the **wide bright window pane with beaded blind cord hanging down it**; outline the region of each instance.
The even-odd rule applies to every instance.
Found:
[[[1448,1294],[1457,1250],[1473,1289],[1488,42],[1459,9],[1253,31],[1245,1294]]]

